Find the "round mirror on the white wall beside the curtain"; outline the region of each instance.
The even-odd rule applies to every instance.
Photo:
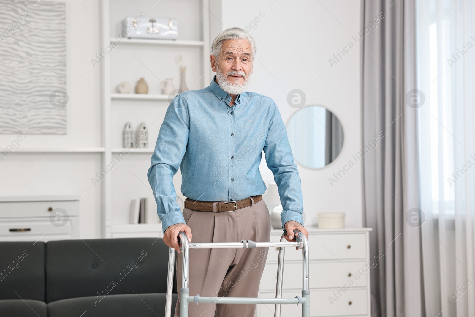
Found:
[[[342,124],[323,106],[305,106],[295,112],[287,124],[287,135],[295,161],[308,168],[322,168],[342,151]]]

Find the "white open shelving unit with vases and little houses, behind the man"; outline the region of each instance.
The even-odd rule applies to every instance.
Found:
[[[179,38],[176,40],[118,38],[114,33],[117,33],[119,19],[122,20],[127,15],[138,15],[140,11],[145,12],[147,17],[177,18]],[[146,77],[151,81],[174,77],[169,74],[161,74],[156,68],[159,68],[157,65],[163,65],[164,68],[170,69],[173,67],[171,58],[175,58],[179,54],[182,54],[183,58],[188,61],[188,64],[184,63],[187,66],[188,87],[199,89],[208,86],[210,81],[209,0],[184,1],[180,4],[180,8],[177,8],[176,2],[171,0],[161,0],[153,6],[146,0],[101,0],[101,21],[103,22],[101,48],[110,47],[112,43],[115,43],[116,46],[101,63],[102,137],[105,144],[102,165],[106,167],[111,164],[111,161],[117,160],[117,157],[126,157],[120,161],[118,167],[114,168],[111,177],[105,177],[102,182],[102,235],[104,238],[159,237],[161,235],[160,223],[128,224],[128,203],[131,199],[138,198],[137,195],[141,195],[149,197],[149,203],[152,199],[150,205],[156,206],[153,195],[151,195],[150,185],[143,180],[143,173],[150,166],[150,156],[154,151],[160,128],[158,119],[163,118],[169,105],[169,96],[161,95],[160,90],[150,82],[148,82],[150,95],[117,94],[114,92],[114,86],[122,80],[137,80],[138,78],[131,77],[135,76],[134,72],[138,68],[143,70],[141,77]],[[121,62],[117,62],[118,60]],[[174,81],[174,85],[179,88],[179,78],[177,79]],[[193,83],[193,87],[191,87],[191,83]],[[198,85],[199,87],[197,87]],[[131,91],[134,91],[133,86],[132,83]],[[125,148],[121,147],[121,142],[118,142],[118,134],[122,131],[122,128],[119,131],[119,126],[123,127],[128,121],[125,118],[128,118],[129,114],[133,125],[138,124],[138,120],[141,120],[149,126],[149,147],[132,149],[124,155]],[[151,126],[153,133],[151,133]],[[140,169],[140,172],[135,171],[134,173],[133,169]],[[131,176],[124,175],[124,173],[130,173]],[[137,178],[139,179],[137,180]],[[133,184],[136,185],[131,183],[133,181],[135,182]],[[177,186],[175,185],[175,187]],[[129,192],[131,197],[128,197]],[[179,192],[179,188],[177,192]]]

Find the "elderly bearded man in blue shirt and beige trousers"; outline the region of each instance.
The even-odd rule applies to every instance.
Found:
[[[269,97],[246,91],[256,55],[254,39],[230,28],[211,45],[216,76],[200,90],[176,96],[167,109],[147,176],[162,221],[163,241],[177,253],[180,298],[181,256],[177,237],[191,242],[269,241],[270,216],[259,173],[262,151],[279,188],[286,240],[303,226],[300,177],[284,122]],[[181,168],[180,211],[173,175]],[[257,297],[268,248],[191,249],[190,295]],[[190,317],[253,317],[256,305],[189,305]],[[180,299],[175,316],[180,316]]]

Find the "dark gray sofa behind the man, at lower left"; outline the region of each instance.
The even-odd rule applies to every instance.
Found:
[[[0,316],[164,316],[168,254],[155,238],[1,241]]]

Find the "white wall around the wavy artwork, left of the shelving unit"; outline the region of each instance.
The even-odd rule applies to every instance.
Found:
[[[101,147],[100,67],[91,58],[100,50],[101,22],[99,1],[66,2],[66,73],[69,104],[67,134],[29,134],[20,142],[26,148]],[[92,11],[92,12],[91,12]],[[12,35],[14,36],[14,35]],[[0,135],[3,151],[16,134]],[[101,186],[94,187],[91,177],[101,169],[101,155],[39,154],[13,151],[0,162],[1,196],[83,195],[80,200],[80,237],[100,237]]]

